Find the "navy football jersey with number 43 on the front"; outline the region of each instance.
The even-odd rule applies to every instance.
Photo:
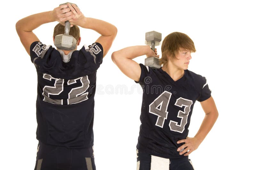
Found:
[[[177,81],[162,70],[140,64],[140,83],[143,89],[140,134],[137,149],[163,158],[175,159],[177,148],[186,139],[194,104],[211,97],[205,77],[184,70]]]

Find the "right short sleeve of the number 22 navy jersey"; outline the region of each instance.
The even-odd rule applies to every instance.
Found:
[[[103,47],[100,43],[93,43],[90,46],[84,45],[80,52],[84,54],[85,60],[90,64],[100,67],[103,59]]]

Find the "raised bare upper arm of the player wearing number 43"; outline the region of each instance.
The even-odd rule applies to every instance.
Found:
[[[141,68],[136,61],[120,56],[119,51],[112,53],[111,59],[127,77],[140,80]]]

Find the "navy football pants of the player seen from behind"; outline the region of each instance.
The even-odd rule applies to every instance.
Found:
[[[93,149],[38,144],[35,170],[96,170]]]

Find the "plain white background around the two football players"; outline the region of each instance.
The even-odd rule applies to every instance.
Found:
[[[196,170],[256,169],[255,159],[255,5],[253,1],[74,1],[87,17],[118,28],[110,51],[97,73],[94,150],[98,170],[135,170],[139,135],[141,89],[122,74],[111,53],[126,46],[143,45],[145,32],[186,33],[193,39],[189,70],[205,76],[219,111],[212,131],[190,154]],[[36,69],[15,31],[15,23],[28,15],[50,11],[63,1],[5,2],[1,16],[1,164],[0,169],[34,169],[36,162]],[[28,23],[31,24],[31,23]],[[34,32],[52,44],[57,22]],[[82,44],[99,34],[81,29]],[[158,53],[161,55],[158,46]],[[144,63],[145,56],[136,58]],[[118,90],[122,87],[122,90]],[[124,89],[127,89],[125,92]],[[131,89],[134,88],[133,91]],[[111,89],[113,91],[111,92]],[[189,136],[198,130],[204,112],[196,102]]]

